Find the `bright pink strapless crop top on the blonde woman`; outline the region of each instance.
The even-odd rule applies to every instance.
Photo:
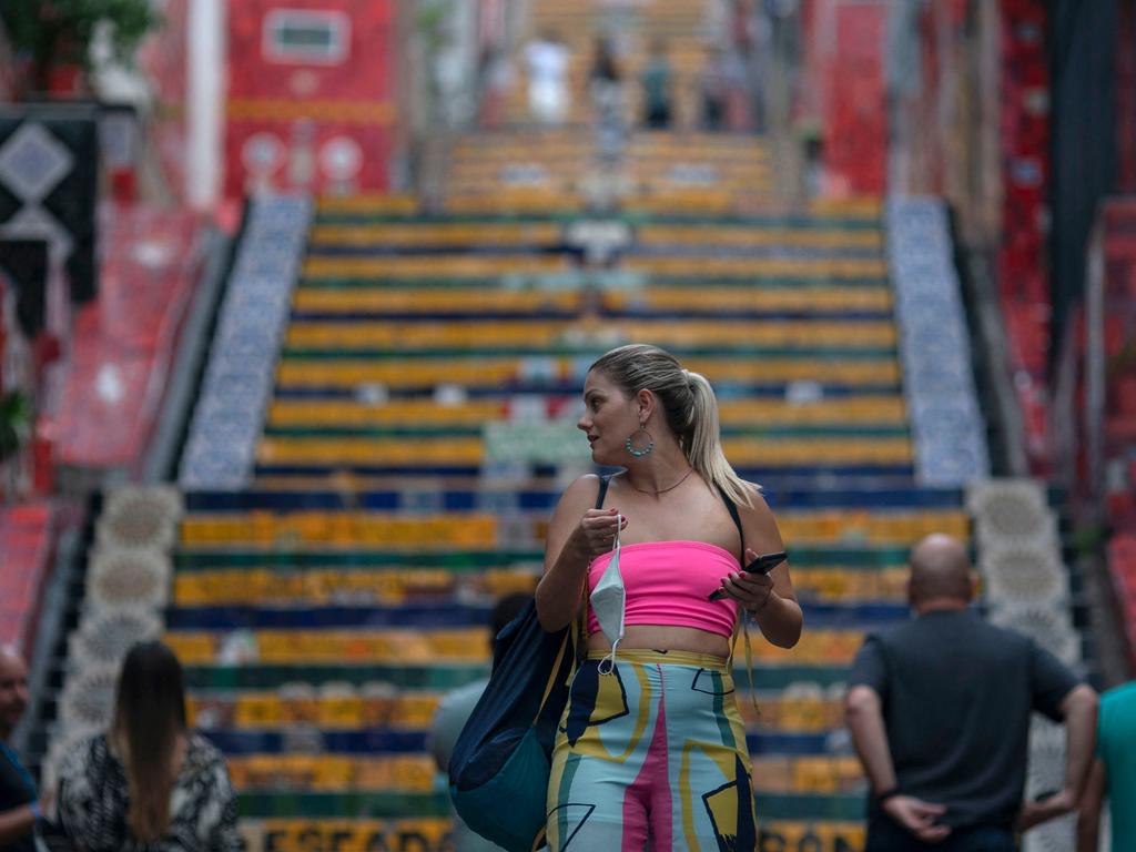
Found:
[[[592,560],[587,569],[591,592],[603,576],[611,553]],[[721,578],[741,570],[737,558],[717,544],[705,542],[642,542],[619,550],[619,573],[624,578],[626,604],[624,624],[658,624],[695,627],[729,638],[737,620],[737,601],[708,601]],[[587,611],[587,632],[600,624]]]

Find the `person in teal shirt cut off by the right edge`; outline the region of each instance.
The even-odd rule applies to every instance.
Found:
[[[1096,760],[1080,800],[1077,852],[1100,849],[1101,808],[1108,799],[1114,852],[1136,850],[1136,680],[1101,696]]]

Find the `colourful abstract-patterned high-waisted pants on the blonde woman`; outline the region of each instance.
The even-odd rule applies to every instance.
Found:
[[[592,653],[573,680],[549,780],[552,852],[745,850],[752,767],[726,663],[683,651]]]

